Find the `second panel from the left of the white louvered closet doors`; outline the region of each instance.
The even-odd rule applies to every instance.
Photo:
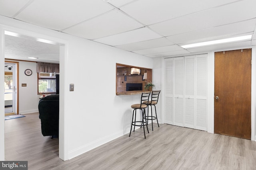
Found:
[[[183,71],[184,57],[174,58],[174,105],[173,124],[183,126]]]

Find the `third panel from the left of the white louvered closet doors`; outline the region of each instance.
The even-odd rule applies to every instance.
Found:
[[[184,127],[195,128],[195,56],[184,58]]]

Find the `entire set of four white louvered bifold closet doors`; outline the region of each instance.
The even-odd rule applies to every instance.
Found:
[[[207,54],[164,59],[164,122],[207,130]]]

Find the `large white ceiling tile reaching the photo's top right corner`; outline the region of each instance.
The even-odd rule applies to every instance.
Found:
[[[210,10],[205,10],[150,25],[150,28],[161,35],[169,36],[216,27],[256,18],[254,6],[256,6],[256,1],[243,0],[229,5],[220,6],[218,8],[212,8]]]

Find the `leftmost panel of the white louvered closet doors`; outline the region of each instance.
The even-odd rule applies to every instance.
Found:
[[[164,59],[164,123],[173,125],[173,58]]]

